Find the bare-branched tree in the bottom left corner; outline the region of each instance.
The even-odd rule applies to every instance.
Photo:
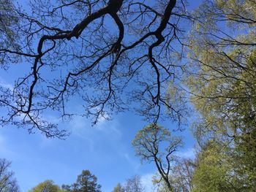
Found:
[[[0,158],[0,192],[19,192],[18,183],[15,180],[14,173],[10,172],[10,161]]]

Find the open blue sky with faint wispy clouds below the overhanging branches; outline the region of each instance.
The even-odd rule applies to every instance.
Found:
[[[198,1],[192,4],[195,7]],[[15,65],[8,72],[0,69],[0,85],[12,88],[15,76],[22,69]],[[80,103],[74,102],[80,110]],[[0,113],[3,113],[0,110]],[[0,114],[3,115],[3,114]],[[89,169],[98,178],[103,192],[110,192],[117,183],[140,175],[146,191],[154,191],[151,177],[157,172],[154,164],[141,164],[135,155],[131,142],[136,133],[146,126],[142,118],[133,112],[124,112],[113,116],[113,120],[101,119],[97,126],[91,126],[91,120],[75,117],[61,123],[53,115],[46,119],[58,123],[60,128],[71,131],[67,139],[47,139],[39,132],[29,134],[26,128],[4,126],[0,128],[0,158],[12,161],[10,170],[15,172],[20,191],[28,191],[44,180],[53,180],[58,185],[70,185],[83,169]],[[175,129],[175,125],[166,121],[163,126]],[[187,126],[182,133],[184,147],[178,155],[193,158],[195,141]]]

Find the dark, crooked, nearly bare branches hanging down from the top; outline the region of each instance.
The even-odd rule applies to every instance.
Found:
[[[131,102],[150,122],[164,118],[166,107],[169,118],[178,119],[165,88],[181,69],[176,61],[183,46],[179,23],[187,19],[183,1],[34,0],[29,6],[29,13],[15,9],[18,49],[0,47],[1,66],[18,57],[26,70],[12,90],[0,88],[0,107],[7,112],[1,125],[65,137],[67,131],[43,114],[72,118],[76,112],[68,106],[78,96],[82,115],[94,123]]]

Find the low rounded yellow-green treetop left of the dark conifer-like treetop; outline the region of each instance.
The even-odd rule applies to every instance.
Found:
[[[54,185],[52,180],[45,180],[29,190],[29,192],[64,192],[58,185]]]

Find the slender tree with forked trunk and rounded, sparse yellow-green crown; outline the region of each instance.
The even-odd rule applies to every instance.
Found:
[[[171,137],[170,131],[166,128],[151,124],[138,131],[132,145],[142,161],[153,161],[156,164],[168,191],[173,191],[169,177],[173,174],[171,166],[176,161],[173,153],[181,146],[181,138]]]

